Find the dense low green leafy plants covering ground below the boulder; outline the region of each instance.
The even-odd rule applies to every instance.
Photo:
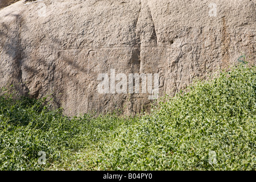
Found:
[[[255,170],[255,79],[241,64],[136,117],[68,118],[44,99],[4,94],[0,169]]]

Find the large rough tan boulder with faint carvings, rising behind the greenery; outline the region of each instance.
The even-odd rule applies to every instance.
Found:
[[[159,95],[173,96],[242,54],[255,64],[255,22],[250,0],[19,1],[0,11],[0,86],[51,94],[67,115],[137,113],[152,93],[117,93],[113,84],[125,85],[113,72],[127,84],[131,73],[158,73]]]

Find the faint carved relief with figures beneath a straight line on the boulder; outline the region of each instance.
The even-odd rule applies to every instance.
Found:
[[[70,80],[73,82],[79,80],[79,88],[74,86],[73,89],[76,93],[88,98],[86,104],[83,103],[86,105],[87,112],[107,113],[121,109],[123,113],[135,114],[148,109],[148,105],[152,103],[148,96],[155,90],[159,96],[164,96],[168,92],[178,92],[196,76],[200,48],[183,43],[177,55],[171,55],[170,49],[170,47],[154,46],[58,49],[56,59],[57,63],[67,64],[67,67],[63,66],[63,68],[66,68],[68,75],[74,70],[77,72],[75,76],[70,75]],[[152,93],[142,93],[142,85],[140,85],[139,93],[98,93],[97,76],[106,73],[110,77],[110,71],[113,69],[116,74],[124,73],[127,80],[130,73],[151,73],[152,75],[158,73],[158,87],[153,86]],[[152,81],[154,85],[154,77]],[[139,82],[142,84],[142,80]]]

